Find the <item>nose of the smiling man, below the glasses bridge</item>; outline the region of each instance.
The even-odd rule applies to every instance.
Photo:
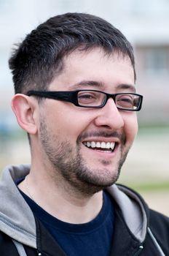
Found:
[[[95,125],[97,127],[107,127],[116,130],[124,127],[122,114],[117,109],[114,99],[109,98],[106,105],[103,108],[98,109]]]

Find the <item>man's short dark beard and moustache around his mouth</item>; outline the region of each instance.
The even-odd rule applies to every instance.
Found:
[[[110,171],[110,167],[107,167],[110,162],[106,160],[101,160],[103,167],[92,169],[80,153],[82,139],[90,138],[91,135],[110,137],[106,132],[79,135],[76,146],[73,147],[68,140],[61,140],[60,137],[53,134],[50,128],[47,127],[44,118],[41,118],[39,134],[44,153],[54,170],[52,177],[57,179],[59,175],[63,181],[71,185],[72,189],[82,193],[82,195],[93,195],[114,184],[119,178],[121,167],[129,151],[129,149],[125,152],[122,150],[125,146],[125,136],[114,132],[111,137],[120,138],[122,145],[121,157],[116,163],[115,170]]]

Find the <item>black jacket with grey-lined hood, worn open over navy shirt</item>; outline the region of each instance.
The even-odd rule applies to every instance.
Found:
[[[24,178],[30,165],[7,167],[0,181],[0,255],[33,256],[58,255],[64,252],[52,241],[15,184]],[[107,188],[116,202],[112,256],[167,256],[169,255],[169,219],[146,206],[144,200],[132,189],[114,184]],[[8,238],[5,244],[4,237]],[[51,238],[51,242],[50,242]],[[9,241],[12,255],[9,254]],[[51,248],[53,246],[53,248]],[[58,247],[57,247],[58,246]],[[14,249],[15,248],[15,249]],[[31,248],[29,253],[27,248]],[[45,249],[44,249],[45,248]],[[57,252],[56,252],[57,251]],[[10,252],[11,253],[11,252]]]

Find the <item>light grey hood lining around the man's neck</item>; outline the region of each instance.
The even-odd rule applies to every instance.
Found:
[[[30,165],[7,167],[0,180],[0,230],[12,239],[36,248],[34,214],[15,184],[24,178]],[[135,192],[121,185],[112,185],[108,192],[122,211],[127,227],[142,242],[146,236],[147,217],[144,202]]]

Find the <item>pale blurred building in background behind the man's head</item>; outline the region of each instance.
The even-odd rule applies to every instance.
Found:
[[[7,64],[12,45],[42,21],[63,12],[99,15],[125,34],[135,50],[138,92],[144,94],[139,121],[169,124],[168,0],[7,0],[0,1],[0,127],[16,124],[10,110],[13,89]]]

